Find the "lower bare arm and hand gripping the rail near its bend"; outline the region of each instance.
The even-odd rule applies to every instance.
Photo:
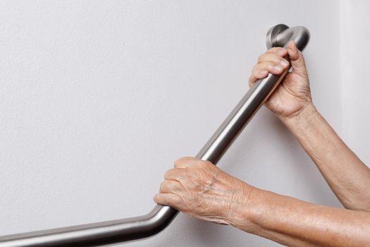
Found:
[[[156,203],[286,246],[370,246],[370,212],[306,203],[249,186],[210,162],[178,159]]]

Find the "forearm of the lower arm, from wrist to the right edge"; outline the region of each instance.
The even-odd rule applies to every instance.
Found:
[[[370,213],[305,203],[257,188],[228,222],[286,246],[370,246]]]

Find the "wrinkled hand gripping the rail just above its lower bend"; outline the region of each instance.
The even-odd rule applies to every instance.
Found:
[[[230,214],[246,203],[252,186],[236,179],[211,162],[183,157],[166,171],[154,201],[199,219],[230,224]]]

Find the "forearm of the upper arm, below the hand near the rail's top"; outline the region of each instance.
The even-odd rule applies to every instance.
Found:
[[[343,205],[370,211],[370,169],[309,104],[300,114],[281,119],[315,162]]]

